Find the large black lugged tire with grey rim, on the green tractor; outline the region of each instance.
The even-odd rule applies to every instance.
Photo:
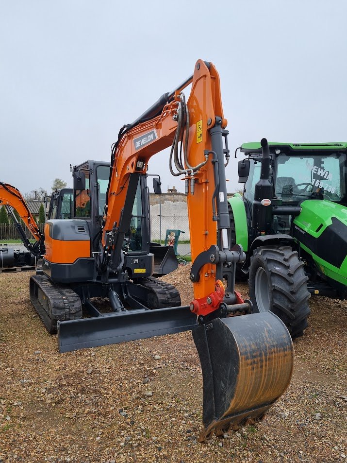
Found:
[[[304,264],[290,246],[255,249],[248,279],[253,313],[271,310],[293,339],[302,336],[310,314],[307,280]]]

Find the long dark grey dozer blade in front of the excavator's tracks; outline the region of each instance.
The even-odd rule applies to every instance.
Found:
[[[58,322],[59,352],[180,333],[196,325],[197,317],[189,310],[189,306],[130,310]]]

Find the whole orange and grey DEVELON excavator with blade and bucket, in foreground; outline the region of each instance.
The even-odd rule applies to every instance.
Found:
[[[203,373],[200,440],[262,420],[293,368],[284,324],[270,311],[250,314],[234,289],[245,254],[228,244],[226,126],[218,73],[198,60],[193,75],[120,129],[111,167],[89,160],[73,168],[73,218],[47,221],[42,270],[30,281],[60,352],[192,330]],[[176,288],[152,277],[149,250],[148,163],[170,146],[191,236],[194,299],[183,307]],[[154,178],[157,192],[159,184]]]

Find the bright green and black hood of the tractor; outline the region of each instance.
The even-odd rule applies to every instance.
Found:
[[[294,237],[326,276],[347,285],[347,207],[306,200],[294,220]]]

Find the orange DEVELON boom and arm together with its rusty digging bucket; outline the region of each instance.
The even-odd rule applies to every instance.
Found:
[[[185,103],[182,90],[189,84]],[[245,255],[241,246],[230,250],[228,244],[226,125],[218,73],[199,60],[193,76],[121,129],[102,226],[100,268],[107,273],[119,268],[138,177],[152,155],[171,145],[169,168],[184,177],[187,193],[195,296],[190,310],[198,316],[193,338],[204,389],[201,441],[262,420],[293,368],[292,341],[281,320],[271,312],[250,315],[250,302],[234,291],[235,264]]]

